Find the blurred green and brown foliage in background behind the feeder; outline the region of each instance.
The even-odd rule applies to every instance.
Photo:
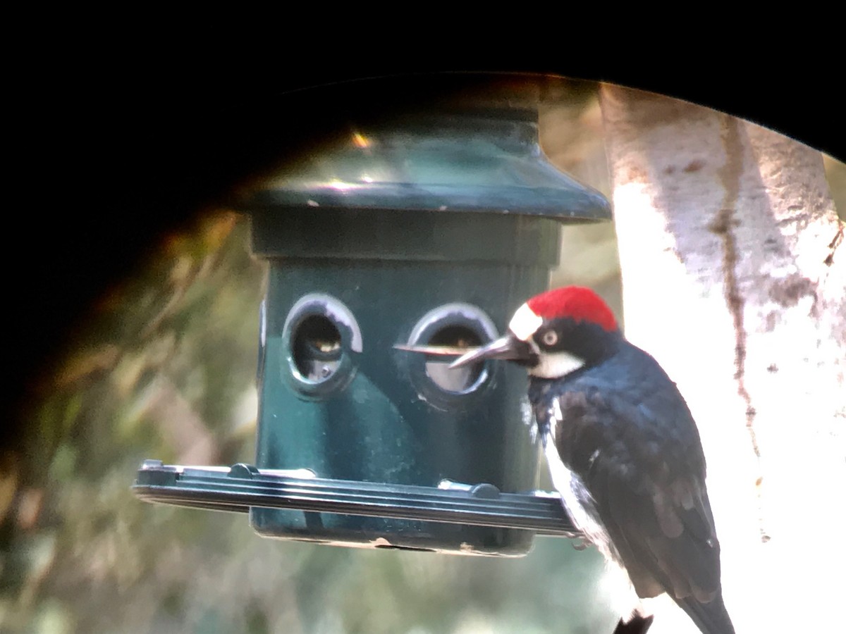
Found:
[[[543,149],[610,197],[596,85],[556,90]],[[846,166],[826,167],[843,217]],[[343,549],[135,499],[145,458],[254,460],[266,271],[248,243],[246,217],[209,209],[103,292],[50,364],[22,448],[0,454],[0,631],[611,631],[602,558],[565,539],[502,560]],[[611,223],[563,230],[551,284],[574,283],[624,318]]]

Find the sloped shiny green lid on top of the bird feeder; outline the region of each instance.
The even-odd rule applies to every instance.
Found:
[[[561,221],[611,219],[611,205],[547,161],[537,110],[414,114],[351,128],[251,189],[248,211],[278,207],[479,211]]]

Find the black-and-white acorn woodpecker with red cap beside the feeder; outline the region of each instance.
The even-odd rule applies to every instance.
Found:
[[[506,336],[453,367],[488,358],[528,370],[552,483],[585,540],[624,568],[640,598],[666,592],[701,631],[733,633],[696,424],[606,303],[583,287],[536,295]],[[645,632],[651,620],[635,610],[617,631]]]

